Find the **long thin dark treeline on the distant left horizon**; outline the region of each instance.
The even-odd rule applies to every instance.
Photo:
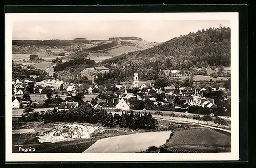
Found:
[[[46,45],[46,46],[65,46],[72,43],[90,44],[90,40],[85,38],[76,38],[73,40],[12,40],[12,45]]]

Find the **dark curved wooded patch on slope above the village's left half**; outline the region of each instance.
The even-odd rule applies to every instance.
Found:
[[[72,66],[79,66],[79,65],[83,65],[83,68],[90,68],[92,66],[94,66],[96,63],[94,60],[90,60],[90,59],[85,59],[85,58],[76,58],[70,61],[67,61],[65,63],[61,63],[61,64],[57,64],[54,67],[54,71],[58,72],[58,71],[62,71],[68,67],[72,67]],[[84,66],[86,65],[86,66]]]

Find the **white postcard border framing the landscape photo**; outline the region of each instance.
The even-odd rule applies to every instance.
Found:
[[[88,17],[90,16],[90,17]],[[231,152],[230,153],[12,153],[12,21],[14,20],[230,20]],[[5,15],[6,161],[220,161],[239,159],[238,13],[27,13]]]

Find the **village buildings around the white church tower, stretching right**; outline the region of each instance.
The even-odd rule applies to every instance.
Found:
[[[202,107],[217,108],[215,99],[219,99],[223,92],[226,92],[225,88],[201,88],[199,86],[195,88],[191,87],[178,87],[167,86],[164,88],[158,88],[150,81],[139,81],[138,73],[134,73],[133,85],[129,88],[123,87],[120,83],[116,85],[118,91],[106,90],[105,93],[111,97],[96,104],[95,108],[102,109],[115,109],[129,110],[130,98],[136,98],[137,100],[150,100],[156,106],[159,104],[174,103],[175,108],[188,109],[189,106],[198,105]],[[115,95],[117,98],[112,98]],[[175,98],[179,101],[175,102]]]

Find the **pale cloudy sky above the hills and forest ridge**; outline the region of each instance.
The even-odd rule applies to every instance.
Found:
[[[47,40],[135,36],[164,42],[210,27],[230,27],[230,20],[24,20],[13,22],[13,40]]]

